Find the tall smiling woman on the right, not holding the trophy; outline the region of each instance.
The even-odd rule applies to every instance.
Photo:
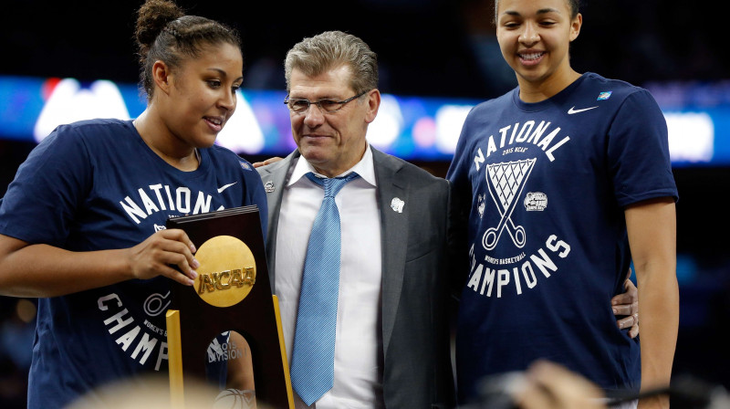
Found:
[[[518,86],[468,114],[447,174],[460,259],[471,262],[456,334],[461,401],[483,377],[537,359],[607,393],[670,381],[679,292],[666,121],[646,89],[571,68],[582,24],[578,0],[495,1]],[[631,262],[641,342],[611,311]]]

